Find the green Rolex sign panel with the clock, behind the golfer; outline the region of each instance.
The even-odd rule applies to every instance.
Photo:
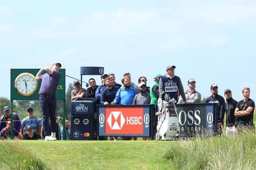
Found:
[[[41,81],[34,81],[40,69],[11,69],[11,100],[38,100]],[[65,74],[65,69],[60,69]],[[43,71],[42,74],[46,73]],[[56,91],[57,100],[65,100],[65,75],[61,75]]]

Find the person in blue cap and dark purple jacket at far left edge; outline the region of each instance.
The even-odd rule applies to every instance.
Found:
[[[11,118],[11,110],[9,106],[3,107],[3,111],[4,111],[4,115],[1,117],[0,130],[6,127],[7,119]],[[12,117],[13,117],[13,123],[14,123],[13,128],[15,128],[16,130],[18,130],[18,132],[20,132],[21,123],[20,123],[20,118],[18,114],[13,112]]]

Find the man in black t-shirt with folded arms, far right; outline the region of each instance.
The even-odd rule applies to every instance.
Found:
[[[241,131],[241,127],[246,126],[254,131],[253,125],[253,113],[254,113],[254,101],[250,99],[250,88],[244,87],[242,90],[244,99],[239,101],[236,105],[235,116],[238,123],[238,130]]]

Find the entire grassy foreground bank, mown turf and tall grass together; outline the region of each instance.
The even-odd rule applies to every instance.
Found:
[[[7,169],[256,169],[250,132],[187,141],[0,142]]]

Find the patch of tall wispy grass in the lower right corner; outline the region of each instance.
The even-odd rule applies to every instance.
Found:
[[[165,157],[172,169],[256,169],[256,135],[197,138],[170,144]]]

